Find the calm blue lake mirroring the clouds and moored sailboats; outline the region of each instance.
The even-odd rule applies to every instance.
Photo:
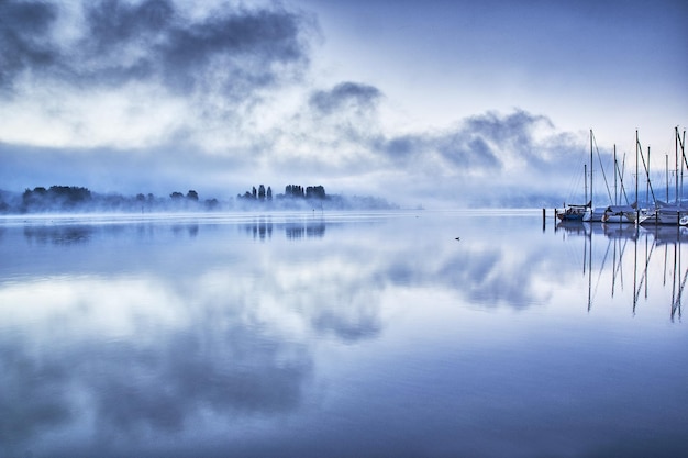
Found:
[[[542,210],[4,216],[0,456],[688,456],[687,277]]]

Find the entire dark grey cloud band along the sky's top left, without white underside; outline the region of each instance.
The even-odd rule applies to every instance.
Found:
[[[75,89],[144,81],[245,97],[307,63],[309,21],[278,7],[226,7],[190,19],[170,0],[85,2],[80,38],[71,42],[51,31],[66,15],[57,4],[9,1],[0,9],[5,88],[31,72]]]

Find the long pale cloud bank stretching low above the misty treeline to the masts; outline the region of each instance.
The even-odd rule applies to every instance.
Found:
[[[70,185],[96,192],[167,196],[196,189],[222,200],[258,182],[274,189],[300,182],[400,204],[421,200],[428,205],[437,198],[541,206],[568,200],[570,190],[563,190],[562,182],[572,180],[572,170],[581,175],[588,158],[585,133],[562,133],[547,118],[522,110],[399,135],[389,135],[375,111],[368,112],[367,122],[354,111],[311,116],[312,110],[301,110],[267,135],[245,133],[245,147],[225,145],[218,153],[199,150],[192,131],[160,146],[131,149],[0,144],[0,178],[8,189],[20,191]]]

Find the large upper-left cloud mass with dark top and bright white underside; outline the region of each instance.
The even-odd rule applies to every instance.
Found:
[[[262,144],[266,104],[308,70],[318,35],[312,16],[277,4],[0,8],[0,138],[18,144],[249,149]]]

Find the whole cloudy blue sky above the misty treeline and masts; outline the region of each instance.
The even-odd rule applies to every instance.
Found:
[[[664,176],[688,124],[687,21],[673,0],[0,0],[0,189],[545,205],[582,192],[590,130],[632,187],[636,131]]]

